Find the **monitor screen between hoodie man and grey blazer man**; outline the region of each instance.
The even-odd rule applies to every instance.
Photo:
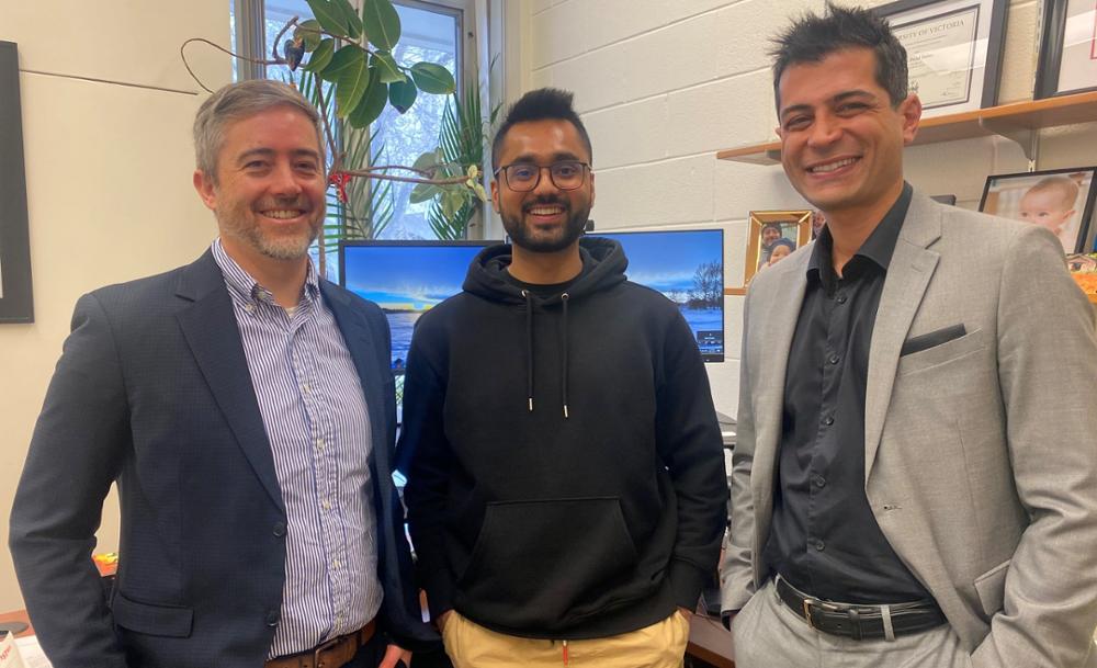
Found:
[[[678,304],[705,362],[724,361],[724,230],[595,233],[621,244],[633,283]]]

